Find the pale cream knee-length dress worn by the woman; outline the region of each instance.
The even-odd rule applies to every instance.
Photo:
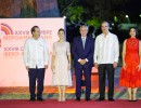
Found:
[[[67,69],[67,55],[69,54],[70,49],[68,42],[64,41],[53,43],[54,70],[52,85],[72,86],[72,73],[70,70]]]

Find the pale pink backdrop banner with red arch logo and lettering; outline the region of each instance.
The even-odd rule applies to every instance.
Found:
[[[28,72],[23,62],[25,40],[31,37],[30,28],[39,26],[40,37],[46,39],[52,55],[57,30],[65,28],[65,19],[59,18],[0,18],[0,86],[28,86]],[[51,63],[51,59],[50,59]],[[44,85],[51,85],[51,67],[46,71]]]

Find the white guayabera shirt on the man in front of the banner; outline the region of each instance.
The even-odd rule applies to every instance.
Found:
[[[29,68],[44,68],[49,64],[49,50],[46,40],[27,39],[24,45],[24,63]]]

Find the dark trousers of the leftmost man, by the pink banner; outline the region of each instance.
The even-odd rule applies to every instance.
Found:
[[[36,81],[37,81],[37,98],[41,98],[43,92],[44,68],[41,69],[29,68],[28,76],[29,76],[30,98],[36,98],[35,94]]]

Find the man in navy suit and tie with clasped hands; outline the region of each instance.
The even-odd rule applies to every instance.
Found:
[[[90,100],[91,93],[91,68],[93,66],[94,40],[88,37],[88,26],[80,26],[80,37],[76,37],[73,42],[72,54],[76,75],[76,100],[81,96],[82,71],[86,81],[86,100]]]

